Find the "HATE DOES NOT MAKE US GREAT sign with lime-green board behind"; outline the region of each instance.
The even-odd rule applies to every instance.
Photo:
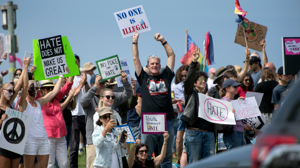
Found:
[[[58,79],[59,75],[71,77],[79,74],[78,65],[67,36],[34,39],[33,62],[36,65],[35,80]],[[67,74],[65,67],[70,68]]]

